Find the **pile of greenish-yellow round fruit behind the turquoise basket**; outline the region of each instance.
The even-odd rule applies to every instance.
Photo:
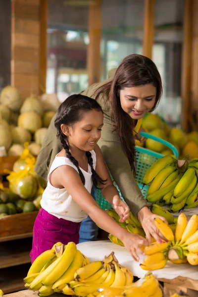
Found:
[[[182,129],[173,127],[168,124],[157,114],[148,113],[143,118],[142,127],[151,135],[157,136],[170,142],[179,151],[179,158],[185,158],[187,155],[190,159],[198,157],[198,132],[184,133]],[[172,150],[165,145],[148,139],[145,143],[137,142],[138,146],[145,146],[148,149],[160,152],[164,155],[171,154]]]

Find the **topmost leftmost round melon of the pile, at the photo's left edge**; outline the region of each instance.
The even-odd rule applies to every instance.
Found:
[[[15,87],[7,86],[0,93],[0,103],[11,110],[18,111],[23,103],[23,99]]]

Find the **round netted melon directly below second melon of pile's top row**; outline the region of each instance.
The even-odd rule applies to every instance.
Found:
[[[18,126],[27,129],[33,134],[42,127],[41,116],[36,112],[21,113],[18,117]]]

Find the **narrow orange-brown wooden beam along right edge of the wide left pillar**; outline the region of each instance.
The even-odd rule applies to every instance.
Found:
[[[48,0],[40,4],[40,93],[46,92],[47,56],[48,56]]]

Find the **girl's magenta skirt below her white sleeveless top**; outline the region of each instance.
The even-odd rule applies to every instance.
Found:
[[[31,262],[57,242],[67,245],[69,242],[79,243],[81,223],[58,219],[41,208],[34,223]]]

